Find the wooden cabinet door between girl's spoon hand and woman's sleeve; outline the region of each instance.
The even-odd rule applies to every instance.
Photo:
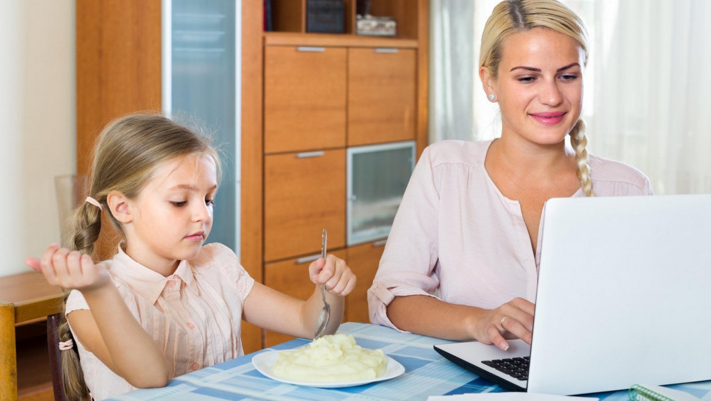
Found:
[[[358,281],[351,294],[346,296],[346,316],[348,321],[370,323],[368,315],[368,289],[373,285],[375,272],[378,271],[380,257],[385,250],[385,240],[348,247],[346,263],[355,273]]]

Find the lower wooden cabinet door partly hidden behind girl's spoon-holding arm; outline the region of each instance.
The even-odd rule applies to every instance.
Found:
[[[346,259],[346,252],[337,250],[328,252],[341,259]],[[308,299],[314,293],[314,283],[309,279],[309,264],[321,257],[321,253],[309,255],[295,260],[267,263],[264,265],[264,285],[276,289],[296,299]],[[314,326],[314,331],[316,327]],[[274,331],[264,331],[264,346],[270,347],[294,337]]]

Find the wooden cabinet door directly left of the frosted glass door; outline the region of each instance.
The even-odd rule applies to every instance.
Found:
[[[346,244],[346,150],[264,156],[264,260]]]

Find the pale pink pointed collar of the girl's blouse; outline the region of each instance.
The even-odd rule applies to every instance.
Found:
[[[126,282],[131,289],[151,302],[151,304],[156,303],[171,279],[178,277],[186,284],[188,289],[193,289],[193,284],[195,283],[195,276],[188,261],[181,260],[176,271],[169,277],[164,277],[162,274],[133,260],[124,252],[121,244],[119,244],[117,255],[114,256],[114,263],[111,264],[111,273]]]

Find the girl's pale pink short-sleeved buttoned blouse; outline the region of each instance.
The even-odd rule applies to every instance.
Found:
[[[224,245],[205,245],[193,260],[183,260],[169,277],[135,262],[119,246],[102,262],[137,321],[163,349],[171,377],[243,355],[242,305],[254,279]],[[65,314],[89,309],[73,290]],[[76,338],[76,336],[75,336]],[[95,400],[134,390],[93,353],[78,345],[84,378]]]

